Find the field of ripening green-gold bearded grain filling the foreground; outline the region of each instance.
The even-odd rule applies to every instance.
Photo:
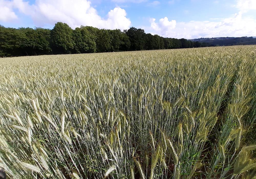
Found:
[[[256,46],[0,59],[11,178],[256,178]]]

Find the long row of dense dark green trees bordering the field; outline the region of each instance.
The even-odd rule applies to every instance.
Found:
[[[0,25],[0,56],[70,54],[207,47],[209,43],[164,38],[131,27],[123,32],[90,26],[72,29],[58,22],[44,28],[5,28]]]

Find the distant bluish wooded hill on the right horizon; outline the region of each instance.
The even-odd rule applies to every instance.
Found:
[[[214,37],[190,39],[190,41],[209,43],[210,46],[254,45],[256,37]]]

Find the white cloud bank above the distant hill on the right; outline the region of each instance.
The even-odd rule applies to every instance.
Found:
[[[246,16],[248,11],[256,10],[256,0],[237,0],[237,4],[233,7],[236,7],[239,12],[222,19],[176,22],[175,20],[169,21],[165,17],[156,22],[156,19],[152,18],[150,19],[151,26],[145,30],[163,37],[186,39],[256,36],[256,19]]]

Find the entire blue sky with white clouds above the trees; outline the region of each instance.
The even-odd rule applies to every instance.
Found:
[[[142,28],[162,37],[256,36],[256,0],[0,0],[5,27]]]

